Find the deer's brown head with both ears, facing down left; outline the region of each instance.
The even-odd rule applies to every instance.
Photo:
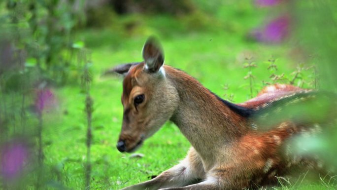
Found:
[[[164,69],[162,47],[148,38],[143,47],[143,62],[124,64],[112,71],[124,76],[122,131],[117,149],[134,152],[172,116],[179,96]]]

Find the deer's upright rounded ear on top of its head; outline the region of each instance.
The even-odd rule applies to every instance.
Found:
[[[143,58],[145,70],[156,73],[164,65],[164,53],[161,44],[154,37],[146,40],[143,47]]]

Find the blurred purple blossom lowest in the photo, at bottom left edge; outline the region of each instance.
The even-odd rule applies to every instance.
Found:
[[[1,151],[1,175],[4,179],[14,179],[22,174],[28,161],[29,150],[23,142],[7,143]]]

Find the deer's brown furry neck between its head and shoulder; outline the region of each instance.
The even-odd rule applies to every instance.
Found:
[[[170,120],[203,160],[216,159],[216,152],[223,151],[247,131],[245,119],[230,110],[195,78],[168,66],[165,70],[180,99]]]

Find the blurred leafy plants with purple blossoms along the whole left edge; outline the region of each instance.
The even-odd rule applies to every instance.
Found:
[[[57,103],[51,86],[67,81],[72,61],[70,2],[0,2],[0,189],[46,189],[54,178],[43,133]]]

